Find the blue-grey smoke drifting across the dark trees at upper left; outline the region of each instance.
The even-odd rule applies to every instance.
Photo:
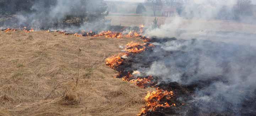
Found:
[[[107,14],[103,0],[35,0],[28,7],[31,12],[17,12],[17,21],[2,27],[89,31],[104,28],[100,20]]]

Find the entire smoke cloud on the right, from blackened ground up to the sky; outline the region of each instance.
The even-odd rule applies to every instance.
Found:
[[[242,22],[218,20],[234,16],[235,5],[236,0],[188,2],[182,17],[145,32],[157,38],[156,47],[140,54],[142,63],[132,69],[157,77],[159,84],[197,85],[188,102],[198,108],[194,109],[198,114],[255,115],[256,26],[251,24],[255,21],[252,16]],[[230,12],[226,16],[220,16],[223,7]]]

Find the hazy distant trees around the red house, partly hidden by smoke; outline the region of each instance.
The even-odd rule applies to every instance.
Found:
[[[189,5],[189,2],[186,1],[189,0],[145,0],[144,4],[138,4],[136,13],[142,14],[146,11],[145,6],[149,6],[153,16],[156,16],[156,12],[161,11],[163,7],[174,7],[180,16],[184,16],[185,13],[182,13],[184,7]],[[191,12],[193,13],[194,11]],[[252,16],[253,12],[251,0],[236,0],[236,4],[231,9],[228,6],[222,6],[215,18],[240,19],[243,16]]]

